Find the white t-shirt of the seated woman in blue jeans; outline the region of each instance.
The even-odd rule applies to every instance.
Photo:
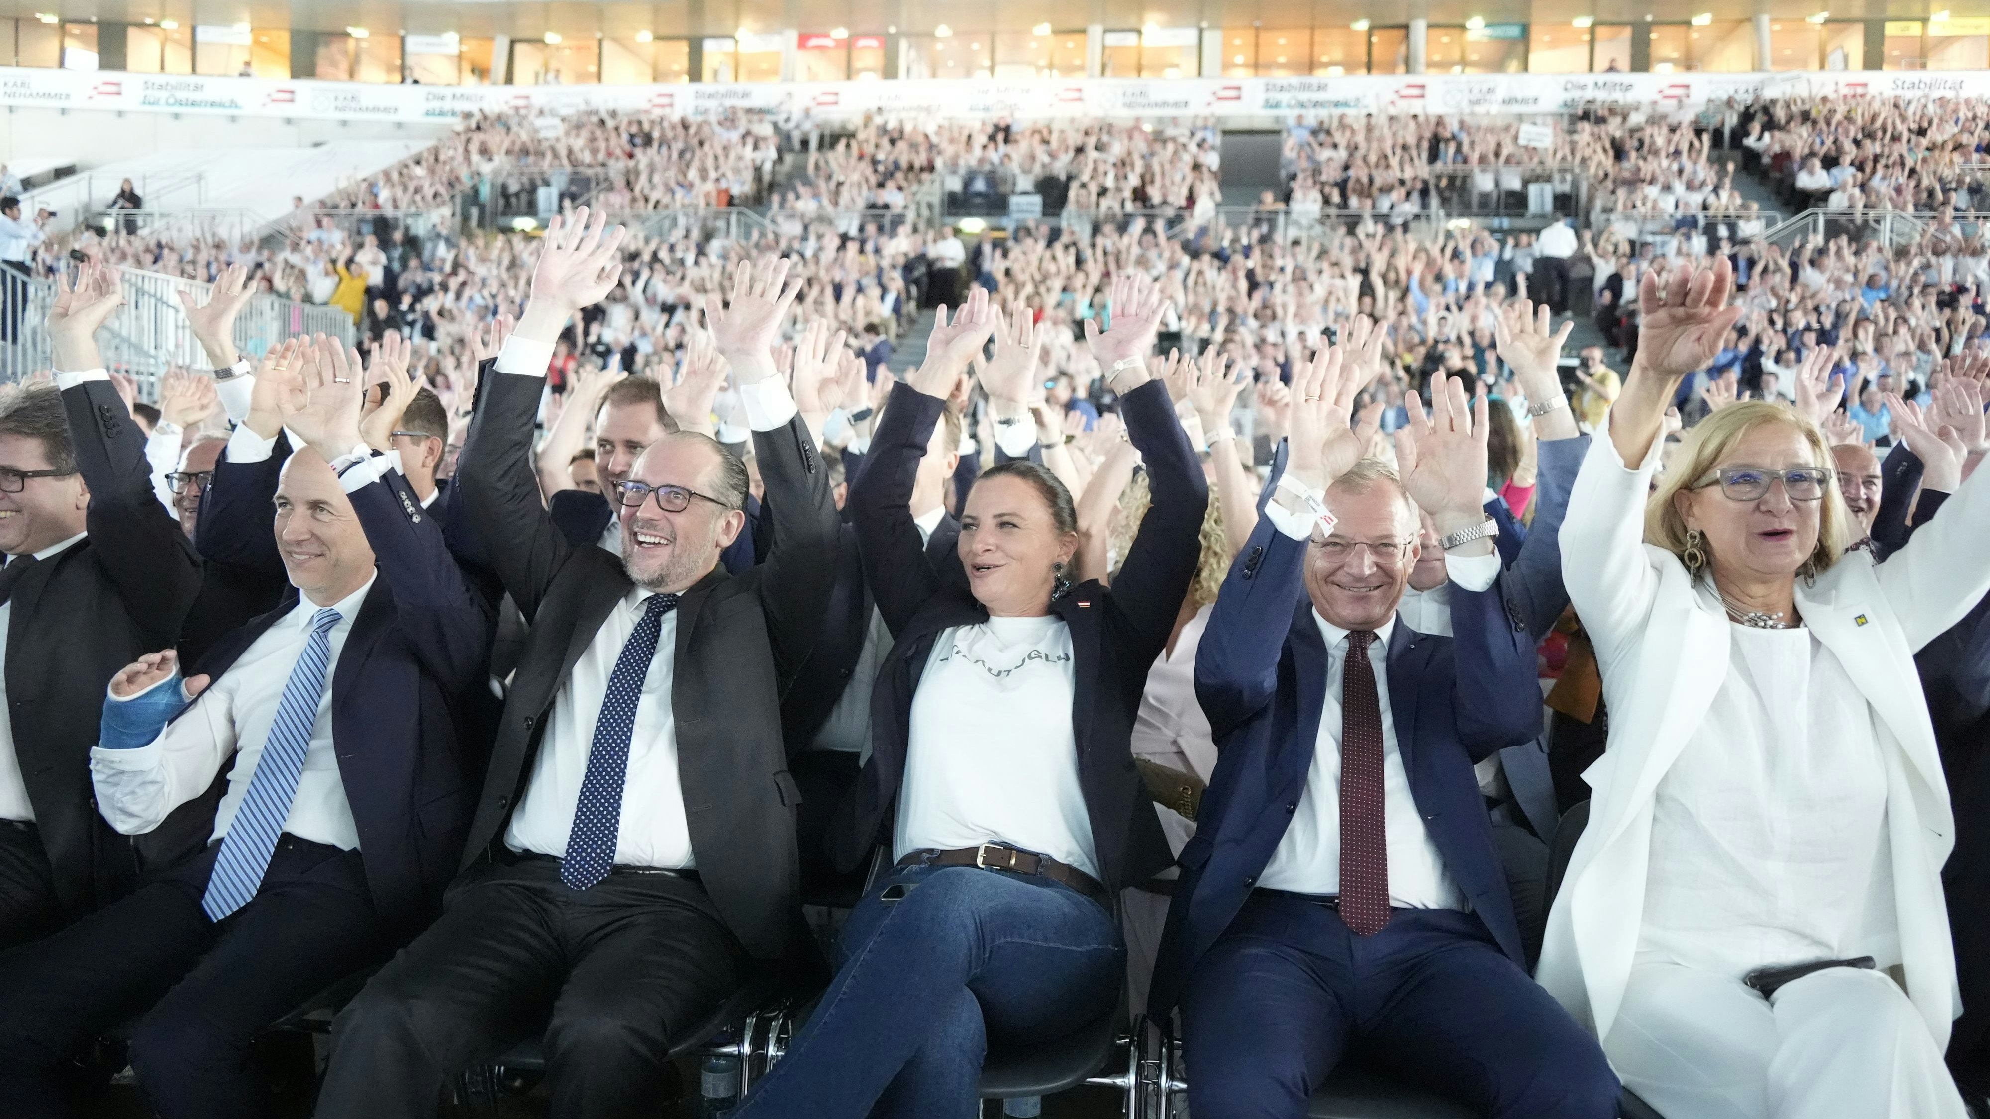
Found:
[[[941,631],[911,697],[894,858],[1001,842],[1096,878],[1073,681],[1055,613]]]

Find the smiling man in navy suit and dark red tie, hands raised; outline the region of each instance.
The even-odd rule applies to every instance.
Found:
[[[1329,362],[1294,386],[1292,472],[1216,601],[1196,695],[1220,761],[1154,970],[1196,1115],[1301,1117],[1349,1051],[1479,1113],[1606,1119],[1618,1081],[1522,964],[1473,763],[1540,729],[1534,643],[1487,538],[1485,402],[1411,408],[1405,478],[1361,460]],[[1455,637],[1395,617],[1415,506]],[[1311,546],[1307,546],[1311,538]]]

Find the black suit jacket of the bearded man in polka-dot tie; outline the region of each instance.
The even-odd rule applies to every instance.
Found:
[[[470,516],[507,542],[494,561],[531,623],[464,850],[466,868],[501,844],[553,697],[631,587],[621,560],[573,546],[539,500],[531,418],[541,384],[513,372],[488,378],[456,472]],[[836,546],[836,504],[800,416],[754,432],[754,450],[778,510],[774,546],[766,563],[740,575],[714,569],[685,591],[671,715],[698,874],[740,944],[772,960],[790,948],[800,898],[800,794],[782,747],[780,697],[822,625],[836,573],[822,561]]]

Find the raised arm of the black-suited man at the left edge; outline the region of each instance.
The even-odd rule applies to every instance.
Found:
[[[56,384],[70,418],[76,470],[90,488],[92,554],[103,563],[145,645],[163,649],[201,593],[201,560],[151,492],[145,434],[117,396],[96,333],[123,303],[117,273],[86,263],[58,279],[48,313]]]

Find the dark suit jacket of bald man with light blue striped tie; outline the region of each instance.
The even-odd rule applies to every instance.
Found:
[[[378,577],[332,667],[332,743],[374,906],[392,928],[412,934],[440,910],[470,830],[482,745],[458,737],[458,711],[484,689],[492,615],[406,478],[388,472],[350,500]],[[267,526],[263,536],[275,540]],[[293,587],[193,671],[219,681],[297,605]],[[187,822],[173,812],[161,828]],[[205,840],[211,802],[201,822],[193,834]]]

